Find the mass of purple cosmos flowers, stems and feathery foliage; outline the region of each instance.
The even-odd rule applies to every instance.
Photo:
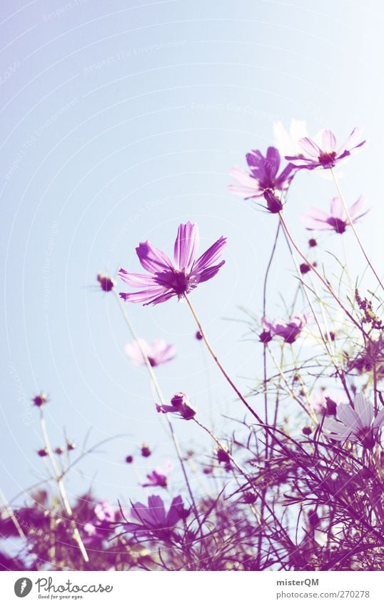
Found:
[[[67,478],[89,451],[69,439],[51,444],[45,411],[54,409],[54,395],[31,394],[41,429],[33,454],[47,479],[19,495],[18,505],[2,495],[3,570],[383,570],[384,285],[358,233],[359,224],[370,221],[368,201],[356,192],[347,202],[339,180],[339,167],[348,171],[349,163],[358,163],[365,139],[359,128],[341,145],[329,130],[310,138],[302,121],[292,121],[288,131],[276,123],[274,134],[267,150],[245,151],[244,162],[225,167],[236,203],[253,206],[256,224],[257,213],[264,213],[275,234],[259,260],[258,307],[236,311],[239,341],[251,340],[261,360],[251,387],[246,393],[238,387],[198,312],[199,291],[211,289],[214,300],[216,276],[225,275],[226,234],[203,250],[203,224],[188,216],[174,226],[173,250],[137,234],[127,243],[136,247],[137,261],[127,266],[121,259],[116,276],[98,273],[95,283],[123,315],[126,357],[148,374],[173,458],[158,465],[156,445],[146,443],[126,453],[126,465],[153,460],[138,481],[139,501],[96,498],[87,487],[70,502]],[[293,184],[307,171],[316,206],[311,200],[302,217],[303,248],[291,232],[290,208]],[[315,195],[321,176],[329,177],[325,200]],[[345,233],[365,263],[363,275],[348,266],[348,251],[333,259],[333,241]],[[295,289],[276,317],[280,293],[268,288],[268,278],[278,243],[286,248]],[[244,272],[243,279],[252,278]],[[198,400],[182,385],[165,397],[158,366],[166,373],[181,352],[163,334],[147,342],[136,333],[133,305],[146,314],[148,306],[168,305],[171,298],[188,309],[193,339],[236,404],[236,415],[223,425],[202,418]],[[202,445],[185,448],[181,425],[195,441],[201,435]],[[16,550],[6,550],[7,539]]]

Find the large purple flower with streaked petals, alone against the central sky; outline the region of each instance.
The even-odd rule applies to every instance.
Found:
[[[118,276],[128,284],[141,288],[136,293],[120,293],[124,301],[131,303],[163,303],[173,296],[178,299],[190,293],[199,283],[216,276],[225,261],[214,265],[226,246],[223,236],[212,244],[197,260],[199,237],[196,223],[181,223],[178,226],[174,247],[174,263],[171,259],[151,245],[149,241],[141,242],[136,248],[138,259],[148,274],[128,273],[121,268]]]

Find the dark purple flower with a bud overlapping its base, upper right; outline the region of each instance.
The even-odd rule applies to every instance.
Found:
[[[243,196],[246,200],[249,198],[264,198],[268,211],[271,213],[280,212],[283,208],[281,192],[288,189],[294,176],[294,167],[288,164],[278,175],[281,158],[276,147],[268,147],[265,158],[261,151],[253,150],[247,153],[246,160],[250,172],[248,173],[243,168],[234,166],[231,170],[231,176],[238,181],[239,185],[230,185],[229,189]],[[276,192],[280,192],[280,195]]]

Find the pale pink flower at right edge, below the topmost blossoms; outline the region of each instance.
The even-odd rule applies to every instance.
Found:
[[[350,206],[349,214],[352,219],[352,223],[358,221],[361,217],[363,217],[366,213],[368,213],[368,209],[366,209],[366,198],[365,196],[360,196],[355,203]],[[305,228],[313,231],[335,231],[336,233],[344,233],[345,228],[348,226],[349,221],[348,217],[343,208],[343,202],[340,198],[333,198],[330,203],[330,213],[324,213],[324,211],[320,211],[319,208],[310,208],[308,214],[303,215],[301,217]]]

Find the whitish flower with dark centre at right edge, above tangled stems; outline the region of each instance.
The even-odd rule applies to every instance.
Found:
[[[363,393],[355,396],[354,407],[350,404],[339,404],[338,420],[325,418],[323,429],[329,437],[338,442],[358,442],[365,448],[373,448],[380,429],[384,425],[384,408],[374,417],[373,404]]]

